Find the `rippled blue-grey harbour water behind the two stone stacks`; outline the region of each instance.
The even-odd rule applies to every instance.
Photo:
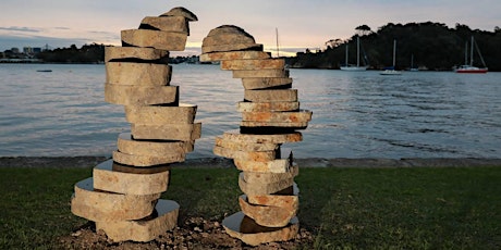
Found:
[[[52,72],[37,72],[52,70]],[[314,112],[295,158],[501,158],[501,73],[291,70]],[[105,65],[0,64],[0,157],[110,155],[127,132],[105,102]],[[239,127],[240,79],[216,65],[173,65],[181,102],[198,105],[203,135],[188,159],[213,158]]]

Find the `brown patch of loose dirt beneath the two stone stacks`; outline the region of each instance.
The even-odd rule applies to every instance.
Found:
[[[245,245],[240,239],[230,237],[217,220],[187,217],[172,232],[167,232],[149,242],[113,242],[103,232],[97,232],[89,222],[69,236],[59,238],[64,249],[295,249],[311,246],[313,235],[300,228],[297,236],[286,242],[270,242],[257,247]]]

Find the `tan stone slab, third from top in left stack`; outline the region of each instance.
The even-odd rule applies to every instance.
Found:
[[[187,34],[150,29],[126,29],[121,35],[124,47],[129,45],[170,51],[183,51],[187,40]]]

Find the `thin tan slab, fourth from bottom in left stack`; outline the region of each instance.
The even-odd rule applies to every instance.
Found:
[[[186,154],[166,152],[160,155],[129,154],[113,151],[113,161],[131,166],[155,166],[169,163],[184,162]]]

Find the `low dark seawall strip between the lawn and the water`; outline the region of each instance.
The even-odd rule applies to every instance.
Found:
[[[2,167],[93,167],[109,160],[107,157],[0,157]],[[501,159],[479,158],[406,158],[406,159],[295,159],[300,167],[480,167],[501,166]],[[173,167],[234,167],[232,160],[223,158],[188,159]]]

